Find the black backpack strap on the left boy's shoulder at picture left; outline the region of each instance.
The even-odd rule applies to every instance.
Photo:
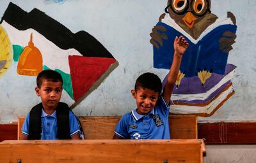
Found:
[[[42,103],[34,106],[29,112],[29,135],[28,139],[41,139],[41,114]]]

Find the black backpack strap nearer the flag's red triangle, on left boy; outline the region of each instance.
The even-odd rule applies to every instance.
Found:
[[[56,108],[57,126],[58,126],[58,139],[71,139],[69,129],[69,110],[68,105],[65,103],[58,103]]]

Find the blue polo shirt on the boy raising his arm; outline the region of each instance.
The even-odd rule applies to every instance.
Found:
[[[123,115],[115,134],[125,139],[170,139],[169,111],[170,105],[161,96],[147,115],[138,114],[137,109]]]

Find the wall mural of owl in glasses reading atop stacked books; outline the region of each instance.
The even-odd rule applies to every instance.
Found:
[[[234,94],[230,80],[236,66],[227,59],[236,39],[236,17],[227,12],[218,18],[211,13],[210,0],[168,0],[164,11],[150,33],[154,67],[170,69],[175,36],[183,35],[189,42],[171,112],[209,117]]]

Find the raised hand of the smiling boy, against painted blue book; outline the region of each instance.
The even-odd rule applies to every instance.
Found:
[[[186,39],[184,38],[184,36],[176,36],[176,38],[174,39],[174,52],[179,54],[179,55],[183,55],[183,53],[186,51],[186,49],[189,46],[188,41],[186,41]]]

